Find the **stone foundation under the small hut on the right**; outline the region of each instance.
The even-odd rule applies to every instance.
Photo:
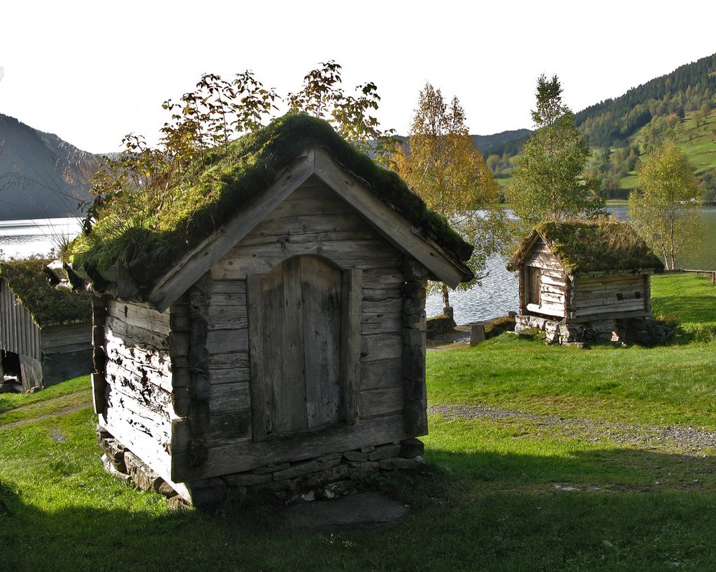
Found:
[[[657,345],[671,340],[674,335],[674,330],[664,322],[645,317],[564,324],[546,317],[517,315],[515,317],[515,332],[519,333],[525,330],[543,332],[548,343],[577,346],[589,342]]]

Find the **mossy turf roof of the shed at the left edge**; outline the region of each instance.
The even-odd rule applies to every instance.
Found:
[[[0,277],[40,327],[92,320],[89,292],[52,286],[42,270],[49,262],[42,257],[0,262]]]

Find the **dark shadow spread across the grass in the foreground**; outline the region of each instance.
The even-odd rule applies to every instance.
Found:
[[[379,531],[334,534],[292,529],[280,513],[261,508],[170,513],[160,503],[128,508],[91,498],[93,506],[49,511],[40,493],[26,498],[16,483],[5,482],[3,567],[716,568],[711,458],[619,449],[536,455],[439,448],[426,458],[420,473],[373,483],[410,504],[411,516]]]

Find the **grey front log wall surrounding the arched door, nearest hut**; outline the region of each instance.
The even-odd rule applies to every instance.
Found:
[[[282,435],[280,440],[256,442],[249,340],[253,326],[247,309],[246,280],[302,255],[321,257],[339,270],[361,270],[359,363],[354,366],[359,380],[354,405],[357,420],[355,425],[339,423],[323,432],[309,430],[293,437]],[[403,418],[402,261],[402,254],[346,202],[317,179],[309,179],[213,265],[202,346],[211,384],[205,433],[208,450],[206,460],[192,467],[189,448],[181,452],[177,443],[174,478],[233,473],[314,457],[321,451],[350,450],[365,443],[417,436],[406,433]],[[252,303],[248,300],[249,305]],[[342,327],[350,327],[349,322]]]

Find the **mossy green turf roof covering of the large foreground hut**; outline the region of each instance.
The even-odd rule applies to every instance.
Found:
[[[328,122],[306,114],[287,114],[224,149],[210,149],[195,172],[172,185],[175,199],[154,212],[140,212],[133,220],[117,220],[114,201],[103,207],[97,223],[70,247],[71,260],[93,280],[98,271],[142,260],[151,267],[141,276],[142,290],[150,290],[164,272],[206,236],[274,182],[276,176],[313,144],[326,148],[348,172],[367,184],[388,207],[395,209],[428,240],[439,245],[454,262],[468,260],[473,250],[448,222],[427,209],[425,202],[394,172],[375,164],[340,137]],[[134,197],[135,203],[139,204]],[[150,264],[147,264],[150,262]]]

